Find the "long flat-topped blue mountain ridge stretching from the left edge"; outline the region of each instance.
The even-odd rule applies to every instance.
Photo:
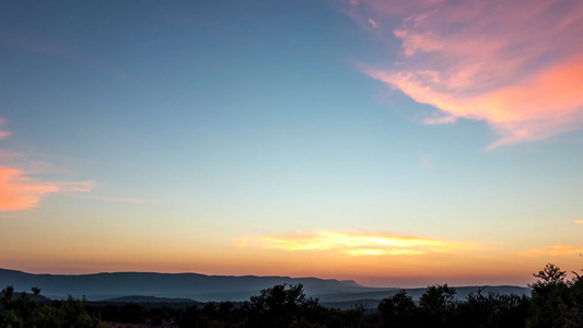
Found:
[[[260,290],[275,284],[298,284],[306,293],[322,294],[326,291],[343,293],[381,291],[365,288],[350,280],[319,279],[314,277],[291,278],[279,276],[207,276],[201,273],[160,272],[100,272],[88,274],[27,273],[0,269],[0,283],[15,289],[30,290],[39,286],[51,298],[69,294],[88,300],[104,300],[128,295],[148,295],[201,301],[248,300]]]

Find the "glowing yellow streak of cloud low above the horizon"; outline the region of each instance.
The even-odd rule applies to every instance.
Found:
[[[354,256],[451,253],[476,247],[476,245],[470,243],[462,242],[446,242],[380,233],[327,231],[241,237],[235,239],[235,245],[240,247],[255,245],[261,248],[278,248],[283,250],[330,249]]]

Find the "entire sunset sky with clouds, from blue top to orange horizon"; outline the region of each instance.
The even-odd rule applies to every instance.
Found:
[[[0,1],[0,267],[583,268],[579,0]]]

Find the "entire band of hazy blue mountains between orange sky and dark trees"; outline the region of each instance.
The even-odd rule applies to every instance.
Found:
[[[198,273],[154,273],[114,272],[94,274],[33,274],[15,270],[0,269],[0,288],[13,285],[16,291],[30,291],[32,286],[42,289],[42,294],[50,298],[86,296],[89,301],[108,300],[112,302],[165,302],[168,298],[187,298],[199,302],[247,301],[260,290],[276,284],[298,284],[304,286],[307,296],[318,297],[323,303],[352,304],[358,300],[382,300],[394,295],[399,289],[366,288],[352,280],[318,278],[256,277],[256,276],[206,276]],[[520,286],[460,286],[455,288],[458,298],[483,289],[482,293],[529,294],[530,290]],[[425,289],[407,289],[413,300]],[[143,297],[147,296],[147,297]],[[121,298],[119,298],[121,297]],[[129,298],[127,298],[129,297]],[[142,298],[140,298],[142,297]],[[156,298],[154,298],[156,297]],[[114,300],[112,300],[114,298]],[[139,301],[141,300],[141,301]],[[162,301],[161,301],[162,300]],[[182,302],[171,300],[168,302]],[[348,302],[348,303],[347,303]],[[372,304],[371,303],[371,304]]]

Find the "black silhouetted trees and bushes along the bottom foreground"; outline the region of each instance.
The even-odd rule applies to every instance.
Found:
[[[248,302],[103,303],[2,291],[0,327],[583,327],[583,277],[547,265],[534,276],[530,297],[481,292],[466,300],[455,289],[429,286],[419,302],[400,291],[378,307],[337,309],[306,297],[301,284],[263,290]]]

